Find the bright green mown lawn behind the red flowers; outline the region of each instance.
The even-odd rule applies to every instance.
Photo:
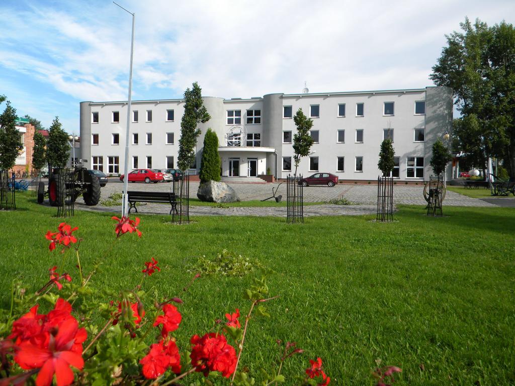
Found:
[[[61,259],[44,238],[61,221],[56,208],[38,206],[27,194],[16,195],[16,203],[17,210],[0,212],[3,308],[11,278],[34,291]],[[249,324],[242,363],[253,376],[271,368],[281,339],[305,350],[284,367],[288,385],[317,356],[336,385],[372,384],[378,358],[402,367],[399,386],[515,383],[515,209],[446,206],[442,218],[424,213],[422,206],[402,206],[393,223],[349,216],[297,225],[275,217],[197,217],[173,225],[169,216],[142,215],[143,237],[118,240],[93,284],[133,288],[143,261],[156,257],[162,272],[144,286],[184,300],[176,337],[185,350],[191,335],[208,331],[225,312],[249,309],[242,291],[251,275],[206,276],[181,293],[192,276],[187,266],[227,249],[276,271],[269,277],[270,295],[279,295],[267,303],[271,318]],[[68,222],[79,226],[88,271],[112,243],[113,221],[77,211]]]

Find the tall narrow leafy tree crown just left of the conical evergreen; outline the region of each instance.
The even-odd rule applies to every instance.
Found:
[[[200,135],[198,125],[211,119],[202,101],[202,89],[197,82],[184,92],[184,115],[181,120],[181,138],[177,166],[186,170],[195,161],[195,146]]]

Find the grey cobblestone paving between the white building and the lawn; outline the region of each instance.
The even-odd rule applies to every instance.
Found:
[[[190,197],[196,198],[198,182],[191,182]],[[272,195],[272,187],[275,188],[279,184],[251,184],[236,183],[231,186],[236,190],[242,201],[261,200]],[[129,190],[143,191],[167,191],[172,188],[171,183],[143,184],[130,183]],[[122,192],[123,183],[115,179],[111,179],[109,183],[101,189],[101,200],[107,199],[114,192]],[[279,186],[276,195],[283,195],[286,199],[286,183]],[[353,201],[355,205],[310,205],[304,206],[304,216],[356,216],[375,214],[377,200],[377,186],[374,184],[358,185],[358,184],[338,184],[332,188],[328,186],[309,186],[304,188],[304,202],[325,202],[333,199],[346,198]],[[413,204],[425,205],[423,198],[423,186],[417,185],[395,185],[393,188],[394,204]],[[479,199],[469,198],[458,193],[447,191],[444,205],[449,206],[482,206],[495,207],[496,205]],[[168,214],[170,208],[168,205],[162,204],[138,204],[141,213],[149,214]],[[121,205],[118,206],[85,206],[82,200],[77,201],[77,209],[95,210],[102,212],[120,212]],[[269,206],[269,207],[230,207],[217,208],[212,206],[190,206],[191,216],[275,216],[286,217],[286,207]]]

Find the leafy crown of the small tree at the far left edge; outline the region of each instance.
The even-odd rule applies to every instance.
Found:
[[[0,96],[0,100],[5,100],[5,97]],[[0,115],[0,169],[12,168],[22,149],[20,132],[16,129],[16,109],[7,101],[7,106]]]

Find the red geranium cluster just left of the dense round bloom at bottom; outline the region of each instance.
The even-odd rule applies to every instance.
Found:
[[[179,348],[174,340],[165,343],[162,340],[159,343],[150,346],[150,352],[140,360],[143,365],[143,375],[147,379],[156,379],[171,367],[171,371],[175,374],[181,372],[181,357]]]

